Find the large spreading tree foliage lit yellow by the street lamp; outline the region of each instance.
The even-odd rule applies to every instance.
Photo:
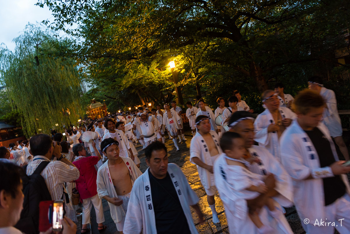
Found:
[[[54,15],[45,23],[84,38],[76,50],[92,79],[136,97],[172,93],[165,69],[172,59],[179,85],[193,88],[187,96],[221,93],[212,90],[218,81],[255,93],[252,100],[275,81],[295,93],[309,75],[343,66],[334,51],[348,46],[349,1],[38,0],[45,4]]]

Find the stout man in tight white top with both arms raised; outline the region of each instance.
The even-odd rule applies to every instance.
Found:
[[[148,113],[138,115],[135,117],[133,124],[140,126],[146,147],[157,140],[157,135],[154,133],[153,115],[150,115]]]

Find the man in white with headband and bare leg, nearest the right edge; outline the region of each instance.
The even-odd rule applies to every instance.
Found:
[[[342,123],[338,114],[337,99],[333,90],[323,87],[322,77],[313,76],[309,78],[309,88],[318,92],[326,103],[326,108],[323,111],[323,124],[327,126],[330,136],[338,145],[340,152],[342,152],[345,160],[350,160],[348,147],[346,147],[343,140]]]

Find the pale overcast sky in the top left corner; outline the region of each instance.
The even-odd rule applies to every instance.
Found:
[[[5,43],[7,48],[14,50],[12,40],[20,35],[27,23],[53,20],[51,11],[35,6],[37,0],[0,0],[0,44]]]

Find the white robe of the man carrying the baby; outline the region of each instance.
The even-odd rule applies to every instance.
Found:
[[[266,175],[272,173],[276,179],[275,190],[279,193],[273,199],[275,205],[289,207],[292,206],[293,200],[293,187],[292,179],[282,167],[282,165],[276,160],[271,153],[269,153],[264,147],[252,145],[248,149],[252,157],[258,157],[261,161],[260,164],[252,163],[250,171],[259,175]],[[246,198],[235,196],[236,193],[232,192],[232,175],[230,172],[230,165],[226,163],[226,159],[223,155],[220,155],[214,164],[215,184],[219,191],[220,198],[225,205],[226,218],[229,224],[229,230],[231,234],[258,234],[258,228],[254,225],[248,216],[248,207]],[[251,198],[256,197],[251,194]],[[278,209],[281,210],[279,207]],[[263,223],[268,223],[271,227],[275,228],[275,232],[270,234],[293,234],[292,229],[284,215],[281,215],[278,220],[273,218],[268,213],[268,208],[262,207],[259,213],[260,220]]]

